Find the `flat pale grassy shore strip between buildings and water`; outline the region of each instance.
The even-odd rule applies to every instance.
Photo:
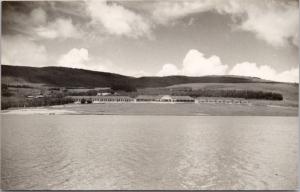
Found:
[[[298,107],[274,105],[105,103],[12,108],[2,115],[298,116]]]

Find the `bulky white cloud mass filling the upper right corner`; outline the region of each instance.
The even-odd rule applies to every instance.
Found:
[[[275,47],[282,47],[288,43],[298,46],[298,6],[275,1],[264,3],[262,6],[252,5],[245,9],[248,17],[238,28],[254,32],[257,38]]]

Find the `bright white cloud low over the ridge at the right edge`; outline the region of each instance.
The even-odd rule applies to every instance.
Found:
[[[236,64],[228,74],[259,77],[261,79],[280,82],[299,82],[299,68],[293,68],[278,73],[275,69],[268,65],[257,66],[256,63],[249,62]]]

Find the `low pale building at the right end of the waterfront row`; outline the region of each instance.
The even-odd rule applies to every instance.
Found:
[[[197,97],[196,103],[248,104],[248,101],[243,98],[231,98],[231,97]]]

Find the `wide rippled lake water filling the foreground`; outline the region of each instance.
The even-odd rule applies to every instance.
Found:
[[[4,189],[296,189],[297,117],[3,115]]]

